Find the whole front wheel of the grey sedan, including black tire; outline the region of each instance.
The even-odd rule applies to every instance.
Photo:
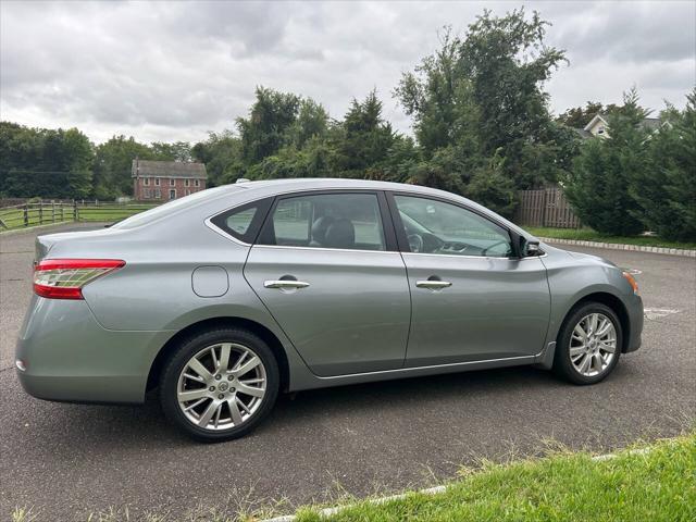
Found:
[[[592,318],[594,316],[597,318],[597,323],[595,324],[601,324],[607,327],[609,334],[598,337],[596,334],[602,333],[600,328],[592,333],[592,327],[588,326],[592,325]],[[609,321],[611,326],[609,327],[604,323],[604,320]],[[583,339],[582,332],[585,332],[585,334],[589,332],[591,335],[586,335]],[[611,332],[614,335],[611,335]],[[614,351],[612,353],[605,350],[605,348],[611,346],[611,343],[608,341],[610,338],[613,338]],[[605,380],[617,366],[622,346],[623,331],[621,321],[619,321],[616,312],[601,302],[582,303],[571,310],[560,328],[556,339],[554,372],[573,384],[587,385],[598,383]],[[605,356],[609,355],[612,357],[605,361]],[[587,364],[587,359],[589,360],[589,368],[583,372],[583,364]]]

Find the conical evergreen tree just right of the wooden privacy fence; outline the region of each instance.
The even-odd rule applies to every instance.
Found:
[[[629,183],[648,167],[648,133],[641,125],[645,115],[635,90],[624,95],[621,112],[609,116],[609,137],[588,139],[568,177],[568,199],[583,223],[597,232],[634,235],[644,229]]]

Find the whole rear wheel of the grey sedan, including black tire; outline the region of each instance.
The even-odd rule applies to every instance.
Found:
[[[226,365],[223,369],[216,364],[222,364],[222,350],[225,347],[229,368]],[[243,355],[246,359],[243,359]],[[236,361],[238,371],[244,371],[247,365],[256,365],[248,373],[237,375],[233,368]],[[209,375],[201,376],[206,371]],[[248,380],[248,376],[257,378]],[[263,396],[257,397],[261,387]],[[241,437],[256,428],[273,409],[278,388],[278,364],[269,346],[251,332],[223,327],[196,334],[178,344],[160,376],[160,402],[166,418],[188,436],[203,443],[219,443]],[[245,395],[243,390],[253,396]],[[204,394],[204,397],[196,396],[188,402],[179,401],[184,397],[181,394],[187,393]],[[203,402],[191,407],[199,400]],[[214,418],[210,417],[209,408],[214,409]],[[223,417],[228,421],[221,421]],[[201,423],[206,423],[206,426]]]

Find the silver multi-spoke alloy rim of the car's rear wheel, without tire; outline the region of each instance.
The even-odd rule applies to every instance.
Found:
[[[184,365],[178,406],[198,427],[224,431],[247,422],[265,397],[266,371],[250,348],[236,343],[208,346]]]

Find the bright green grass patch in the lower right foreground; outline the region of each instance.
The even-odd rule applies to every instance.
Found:
[[[696,520],[696,432],[644,453],[556,453],[462,475],[443,494],[362,501],[331,517],[304,508],[298,522]]]

